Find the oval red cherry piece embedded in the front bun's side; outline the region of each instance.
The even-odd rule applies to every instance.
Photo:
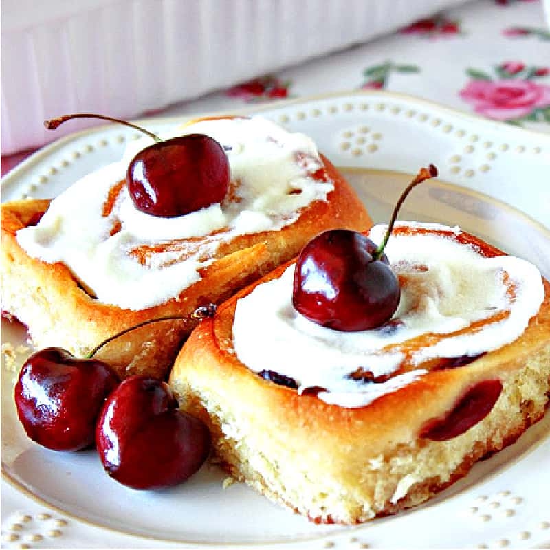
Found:
[[[447,441],[470,430],[491,412],[502,389],[500,380],[478,382],[444,417],[428,420],[420,430],[420,437]]]

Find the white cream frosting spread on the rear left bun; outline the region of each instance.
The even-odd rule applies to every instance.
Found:
[[[30,256],[67,265],[101,302],[139,310],[162,304],[199,281],[221,242],[279,230],[333,190],[331,181],[313,177],[322,168],[314,142],[265,118],[201,120],[161,137],[190,133],[210,135],[225,149],[234,200],[162,218],[137,210],[123,186],[105,215],[110,190],[126,177],[133,156],[153,143],[144,137],[127,146],[120,162],[86,175],[54,199],[38,225],[17,232],[19,245]],[[140,262],[131,254],[140,247],[204,236],[212,238],[190,255],[168,250]]]

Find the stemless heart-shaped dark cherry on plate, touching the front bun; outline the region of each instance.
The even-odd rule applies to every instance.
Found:
[[[161,489],[195,474],[208,456],[205,424],[181,412],[168,384],[126,378],[104,404],[96,428],[102,464],[133,489]]]

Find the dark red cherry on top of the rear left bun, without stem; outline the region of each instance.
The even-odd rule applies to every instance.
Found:
[[[137,153],[126,184],[135,208],[171,218],[223,201],[230,166],[223,147],[202,134],[158,142]]]

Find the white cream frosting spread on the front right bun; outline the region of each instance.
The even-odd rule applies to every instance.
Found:
[[[401,283],[401,300],[389,325],[342,332],[307,320],[292,306],[292,265],[280,278],[238,300],[233,323],[236,357],[257,373],[292,377],[300,393],[325,388],[318,393],[320,399],[353,408],[423,375],[423,362],[475,357],[525,331],[544,298],[534,265],[512,256],[485,257],[474,246],[450,238],[461,233],[459,228],[399,225],[426,231],[392,235],[386,246]],[[377,225],[369,236],[380,243],[385,232],[385,225]],[[412,350],[406,347],[427,333],[442,336]],[[397,372],[405,361],[409,368]],[[386,382],[353,380],[350,374],[360,368],[375,377],[396,374]]]

